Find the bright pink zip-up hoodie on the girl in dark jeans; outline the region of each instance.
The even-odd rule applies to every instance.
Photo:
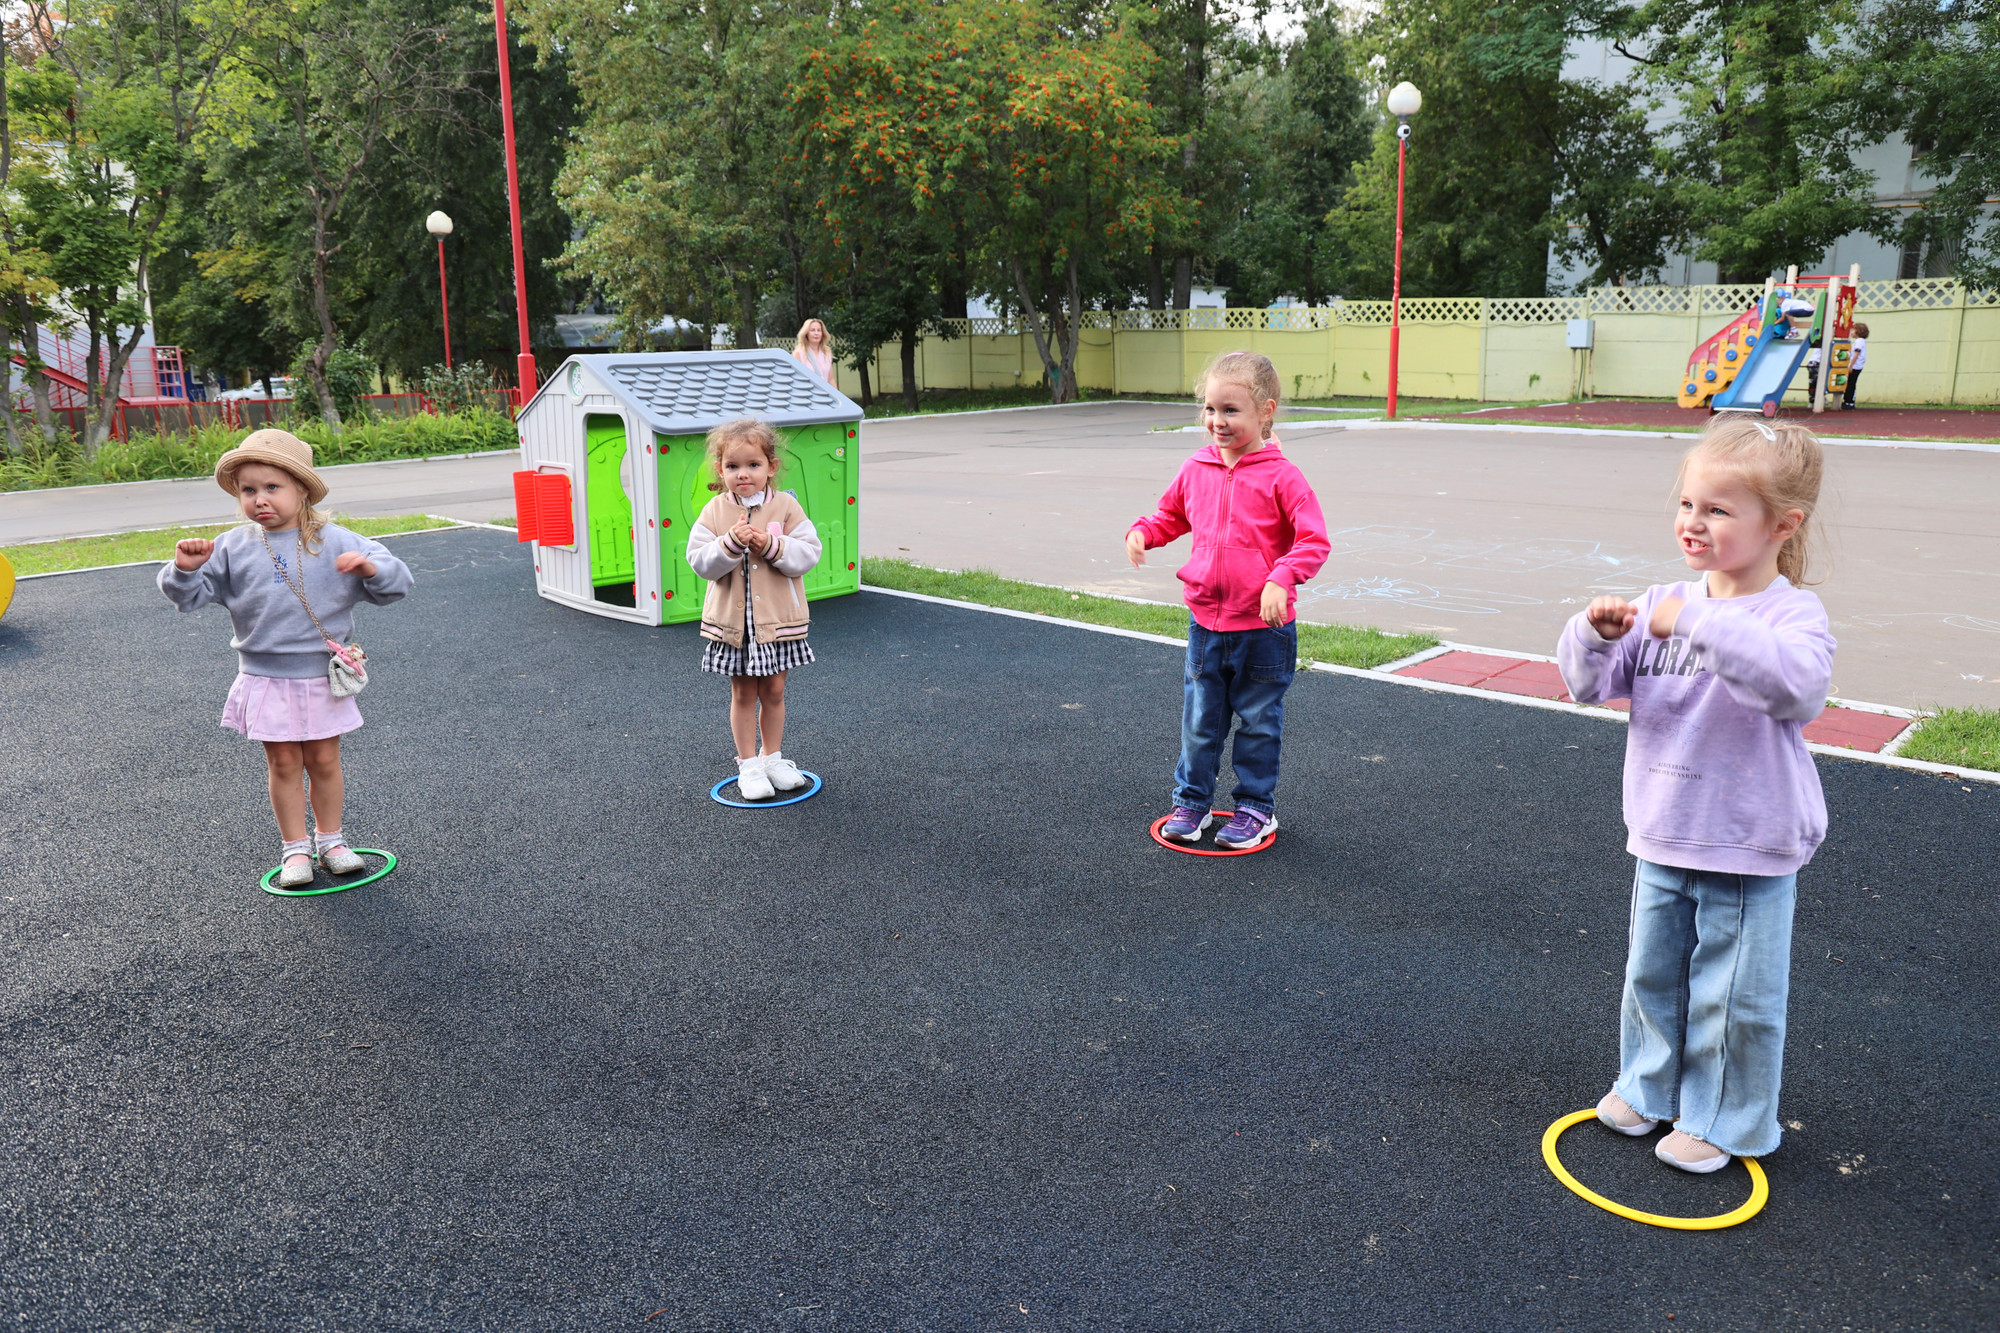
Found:
[[[1160,508],[1132,524],[1146,548],[1194,532],[1194,554],[1180,566],[1182,598],[1206,630],[1264,628],[1264,584],[1286,590],[1284,618],[1298,606],[1298,584],[1326,564],[1326,516],[1312,482],[1284,456],[1278,440],[1222,464],[1214,444],[1180,464]]]

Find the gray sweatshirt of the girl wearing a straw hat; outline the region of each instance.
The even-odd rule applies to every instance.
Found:
[[[258,540],[260,528],[246,522],[216,538],[216,550],[200,568],[184,570],[172,560],[160,570],[160,590],[182,610],[222,602],[230,608],[236,636],[236,660],[250,677],[284,677],[310,681],[326,675],[326,640],[312,626],[312,616],[286,586],[272,556]],[[288,566],[292,582],[300,582],[320,624],[346,642],[354,634],[354,602],[386,606],[402,600],[414,578],[410,566],[388,552],[378,540],[348,532],[336,522],[320,528],[320,550],[304,560],[304,580],[298,570],[298,530],[266,532],[270,550]],[[360,550],[374,566],[374,578],[342,574],[334,558],[344,550]]]

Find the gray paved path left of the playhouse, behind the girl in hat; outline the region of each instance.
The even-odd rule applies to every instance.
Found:
[[[342,514],[446,514],[490,522],[514,514],[520,454],[350,462],[320,468],[326,508]],[[230,522],[236,502],[208,476],[0,494],[0,546],[130,528]]]

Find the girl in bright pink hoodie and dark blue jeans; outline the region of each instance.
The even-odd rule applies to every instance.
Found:
[[[1284,693],[1298,669],[1298,584],[1320,572],[1330,542],[1320,498],[1272,438],[1278,370],[1256,352],[1228,352],[1196,382],[1208,444],[1180,464],[1158,512],[1126,532],[1126,558],[1194,532],[1180,566],[1188,602],[1188,671],[1180,713],[1174,811],[1162,837],[1196,843],[1212,823],[1230,715],[1242,719],[1230,763],[1236,813],[1216,833],[1226,849],[1278,831]]]

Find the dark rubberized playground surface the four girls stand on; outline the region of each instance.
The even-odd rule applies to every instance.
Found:
[[[1770,1207],[1658,1231],[1538,1153],[1616,1067],[1620,727],[1302,677],[1276,845],[1184,857],[1174,648],[860,594],[792,679],[826,791],[728,811],[692,628],[392,540],[354,893],[256,889],[220,608],[0,620],[0,1327],[2000,1321],[1996,789],[1820,761]]]

